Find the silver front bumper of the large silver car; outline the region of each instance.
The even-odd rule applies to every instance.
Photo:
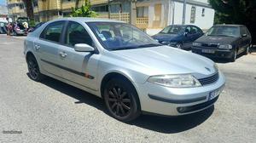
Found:
[[[174,89],[146,82],[137,85],[137,92],[143,112],[178,116],[200,112],[212,106],[218,96],[209,100],[209,94],[217,89],[222,91],[224,83],[224,75],[219,72],[216,83],[197,88]]]

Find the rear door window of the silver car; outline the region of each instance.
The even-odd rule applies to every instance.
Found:
[[[59,43],[63,26],[63,21],[50,23],[41,33],[40,38]]]

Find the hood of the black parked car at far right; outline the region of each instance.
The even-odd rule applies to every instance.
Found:
[[[236,41],[237,37],[215,37],[215,36],[202,36],[198,38],[195,42],[197,43],[233,43]]]

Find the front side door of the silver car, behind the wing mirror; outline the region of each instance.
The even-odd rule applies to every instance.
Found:
[[[82,24],[69,21],[65,28],[65,36],[59,49],[61,73],[65,79],[85,88],[96,90],[98,59],[96,52],[77,52],[74,45],[87,43],[95,47],[93,41]],[[95,48],[96,49],[96,48]]]

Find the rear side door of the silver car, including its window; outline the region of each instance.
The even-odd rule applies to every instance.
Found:
[[[65,21],[55,21],[44,28],[40,37],[34,41],[34,50],[38,54],[41,66],[45,72],[61,77],[60,40]]]

